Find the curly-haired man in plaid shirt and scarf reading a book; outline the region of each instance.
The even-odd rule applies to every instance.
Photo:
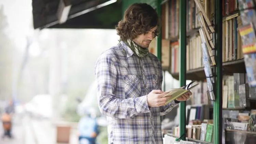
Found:
[[[161,144],[160,116],[192,94],[165,105],[161,63],[147,49],[158,25],[150,5],[132,4],[116,27],[120,42],[96,62],[98,103],[108,119],[109,144]]]

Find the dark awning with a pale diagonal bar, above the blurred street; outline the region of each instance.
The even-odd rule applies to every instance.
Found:
[[[101,28],[114,29],[122,18],[120,0],[69,0],[67,21],[59,24],[60,0],[32,0],[34,29]]]

